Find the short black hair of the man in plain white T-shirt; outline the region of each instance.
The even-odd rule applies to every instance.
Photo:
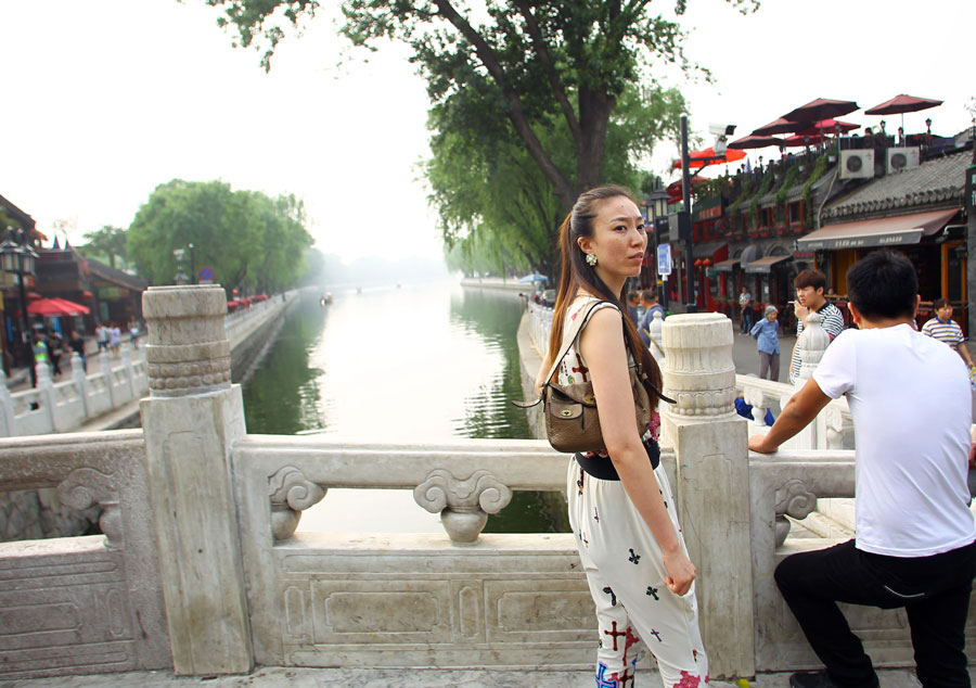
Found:
[[[869,253],[847,271],[848,298],[869,320],[912,317],[917,294],[915,266],[897,251]]]

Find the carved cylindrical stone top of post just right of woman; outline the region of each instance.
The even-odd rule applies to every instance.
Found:
[[[671,316],[662,326],[668,355],[665,404],[677,416],[714,419],[734,413],[735,365],[732,362],[732,321],[716,313]]]

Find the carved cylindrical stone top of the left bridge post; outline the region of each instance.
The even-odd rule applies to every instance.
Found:
[[[150,286],[142,295],[152,396],[204,394],[230,386],[227,295],[219,285]]]

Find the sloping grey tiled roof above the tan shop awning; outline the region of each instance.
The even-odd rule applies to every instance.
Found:
[[[824,208],[824,218],[884,214],[901,208],[951,207],[962,202],[965,170],[972,151],[923,163],[914,169],[886,175],[859,187]]]

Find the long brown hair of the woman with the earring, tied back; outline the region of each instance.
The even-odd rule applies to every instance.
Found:
[[[563,324],[566,320],[566,310],[579,292],[580,286],[583,286],[591,294],[596,294],[620,308],[620,314],[624,316],[625,335],[630,344],[630,351],[633,352],[637,362],[640,364],[648,381],[654,386],[654,388],[647,390],[647,394],[651,395],[653,407],[656,407],[658,399],[657,390],[662,388],[660,368],[658,368],[657,361],[654,360],[650,349],[641,342],[637,327],[627,317],[627,310],[624,308],[624,293],[627,288],[625,285],[619,294],[614,294],[606,283],[600,279],[600,276],[596,275],[593,266],[587,263],[586,256],[577,241],[579,237],[593,235],[593,219],[596,217],[599,205],[604,201],[618,196],[630,199],[637,205],[633,195],[624,187],[613,184],[598,187],[580,194],[573,206],[573,211],[560,226],[562,270],[560,272],[560,291],[556,294],[555,309],[552,315],[552,333],[549,336],[549,361],[550,365],[555,362],[555,357],[558,355],[563,344]]]

